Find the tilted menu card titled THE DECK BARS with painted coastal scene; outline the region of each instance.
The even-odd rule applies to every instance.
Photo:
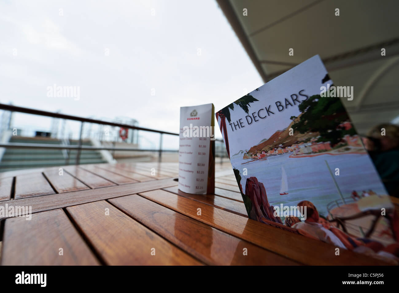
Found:
[[[398,214],[337,92],[316,55],[216,113],[248,216],[397,264]]]

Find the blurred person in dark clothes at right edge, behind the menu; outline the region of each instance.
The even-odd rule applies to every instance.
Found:
[[[362,140],[387,192],[399,197],[399,126],[379,124]]]

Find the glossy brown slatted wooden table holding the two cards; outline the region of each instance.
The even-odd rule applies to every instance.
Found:
[[[177,163],[119,163],[0,174],[2,265],[385,265],[248,219],[230,163],[215,195],[178,190]],[[17,211],[22,215],[21,210]]]

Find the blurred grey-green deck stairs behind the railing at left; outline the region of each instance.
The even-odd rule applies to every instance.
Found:
[[[62,144],[58,139],[42,137],[11,137],[10,143],[45,143]],[[70,145],[78,145],[79,141],[69,141]],[[84,140],[82,145],[92,145],[90,141]],[[75,164],[77,150],[70,150],[68,158],[66,152],[57,149],[34,149],[34,148],[7,148],[0,161],[0,172],[26,168],[41,168],[51,166],[62,166]],[[100,152],[97,150],[82,150],[80,154],[80,164],[105,163]]]

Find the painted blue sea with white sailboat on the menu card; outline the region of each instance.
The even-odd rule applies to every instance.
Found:
[[[301,200],[309,200],[316,206],[319,214],[327,216],[327,204],[341,198],[328,170],[329,166],[344,198],[350,197],[353,190],[359,195],[363,190],[370,189],[377,194],[387,194],[367,154],[322,154],[289,158],[290,154],[292,153],[269,156],[267,160],[253,162],[249,162],[251,159],[244,160],[242,155],[232,156],[233,167],[240,170],[243,192],[245,193],[247,178],[255,176],[265,186],[271,205],[296,206]],[[244,162],[248,163],[241,164]],[[282,166],[287,175],[286,195],[279,194]],[[243,175],[244,168],[247,168],[247,175]],[[334,175],[336,168],[339,168],[339,176]]]

